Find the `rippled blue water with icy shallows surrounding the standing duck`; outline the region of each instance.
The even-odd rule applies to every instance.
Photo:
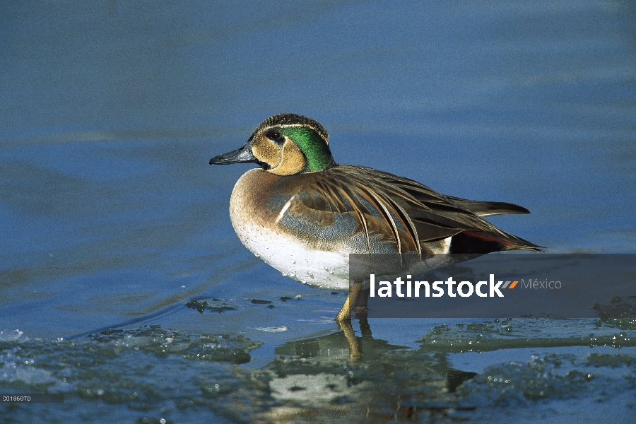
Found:
[[[627,422],[631,322],[354,320],[348,360],[344,293],[250,254],[228,217],[249,165],[207,162],[307,114],[338,163],[521,204],[492,222],[550,252],[634,253],[635,22],[627,1],[0,6],[0,391],[65,394],[2,419]]]

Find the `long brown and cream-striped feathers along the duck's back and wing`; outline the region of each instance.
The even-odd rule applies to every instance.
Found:
[[[305,174],[305,189],[323,201],[308,207],[348,213],[360,223],[370,249],[369,220],[381,218],[393,236],[398,252],[413,245],[421,253],[422,243],[442,240],[459,232],[478,234],[500,242],[504,248],[538,249],[538,246],[500,230],[481,218],[498,213],[529,213],[521,206],[502,202],[480,202],[444,196],[412,179],[368,167],[336,165],[322,172]],[[406,239],[404,239],[406,237]]]

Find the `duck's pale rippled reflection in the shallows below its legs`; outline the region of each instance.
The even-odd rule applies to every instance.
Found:
[[[406,351],[375,339],[366,319],[360,328],[362,335],[354,336],[358,355],[351,354],[346,330],[276,348],[282,356],[268,365],[277,375],[269,387],[282,404],[265,415],[281,422],[390,420],[474,409],[457,404],[453,392],[475,372],[450,367],[444,353]]]

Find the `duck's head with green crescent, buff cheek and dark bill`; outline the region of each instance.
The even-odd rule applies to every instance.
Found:
[[[245,146],[210,159],[210,165],[257,163],[276,175],[326,170],[336,165],[329,134],[314,119],[281,113],[265,119]]]

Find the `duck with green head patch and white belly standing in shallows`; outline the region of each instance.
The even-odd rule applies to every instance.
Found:
[[[324,127],[298,114],[265,119],[245,146],[210,160],[230,163],[260,166],[232,191],[230,219],[241,242],[285,276],[349,290],[338,322],[350,319],[358,297],[349,287],[351,253],[540,250],[483,219],[526,208],[444,196],[412,179],[337,164]]]

